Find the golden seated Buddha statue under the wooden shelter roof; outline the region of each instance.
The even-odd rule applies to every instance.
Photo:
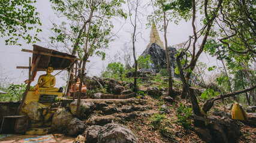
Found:
[[[37,85],[31,88],[29,91],[49,91],[58,92],[58,88],[54,88],[56,83],[56,78],[51,73],[53,72],[53,67],[47,67],[46,74],[39,77]]]

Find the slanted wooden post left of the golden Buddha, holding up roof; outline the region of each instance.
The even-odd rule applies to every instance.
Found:
[[[37,60],[35,61],[35,68],[32,70],[31,76],[29,77],[29,82],[28,82],[28,85],[26,86],[26,91],[23,94],[22,102],[20,103],[19,108],[17,110],[17,115],[20,114],[20,111],[22,110],[22,107],[25,103],[26,95],[28,94],[28,91],[30,89],[30,84],[32,82],[32,78],[34,77],[35,71],[37,70],[37,65],[38,65],[38,62],[40,60],[40,57],[41,57],[41,55],[38,55]]]

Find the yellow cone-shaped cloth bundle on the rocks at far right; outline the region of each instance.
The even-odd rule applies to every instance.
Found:
[[[243,108],[237,102],[235,102],[232,107],[231,116],[232,116],[232,119],[248,121],[248,116],[246,111],[243,110]]]

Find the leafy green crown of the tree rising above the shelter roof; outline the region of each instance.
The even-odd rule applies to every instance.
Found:
[[[51,44],[73,48],[80,58],[88,59],[94,54],[105,58],[101,48],[107,48],[113,24],[110,18],[127,18],[121,6],[124,0],[85,1],[85,0],[50,0],[53,10],[59,17],[65,17],[61,24],[53,24],[56,36],[50,37]],[[73,51],[73,54],[74,52]]]

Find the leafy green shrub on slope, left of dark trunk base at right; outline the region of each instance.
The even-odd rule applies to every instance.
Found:
[[[177,123],[180,126],[183,126],[184,129],[191,129],[191,122],[189,119],[192,116],[192,108],[186,107],[185,104],[179,103],[179,107],[177,108]]]

